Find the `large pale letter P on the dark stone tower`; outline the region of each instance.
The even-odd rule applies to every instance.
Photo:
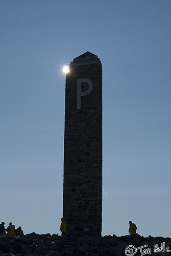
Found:
[[[81,83],[86,82],[88,84],[88,89],[81,92]],[[88,78],[77,79],[77,109],[81,109],[81,97],[88,95],[92,90],[92,82]]]

